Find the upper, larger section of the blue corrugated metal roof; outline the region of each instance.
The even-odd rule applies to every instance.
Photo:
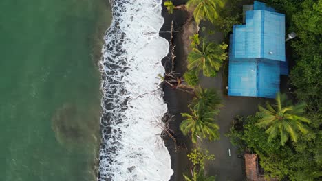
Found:
[[[233,26],[233,58],[285,61],[285,16],[266,10],[246,12],[246,25]]]

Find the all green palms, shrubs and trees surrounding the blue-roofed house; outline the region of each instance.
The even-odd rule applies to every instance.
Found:
[[[202,20],[211,21],[224,33],[225,41],[228,42],[233,25],[241,23],[242,5],[253,3],[250,0],[228,1],[226,8],[220,8],[223,1],[218,0],[190,0],[186,6],[193,10],[197,24]],[[242,152],[254,152],[259,156],[266,176],[279,180],[321,180],[322,0],[263,1],[277,12],[286,14],[286,33],[297,34],[296,38],[286,43],[286,51],[290,62],[294,62],[289,75],[292,85],[290,92],[294,93],[294,101],[300,104],[292,105],[285,96],[278,95],[275,104],[259,106],[256,115],[237,117],[228,136],[233,145],[237,145]],[[173,9],[175,8],[172,7],[172,12]],[[195,88],[195,98],[189,105],[191,113],[184,115],[186,120],[182,122],[180,129],[185,134],[191,134],[195,143],[198,137],[208,137],[208,134],[202,136],[202,132],[209,128],[204,125],[204,120],[207,120],[206,123],[213,123],[213,116],[218,111],[218,107],[206,106],[206,99],[203,100],[197,95],[200,88],[197,86],[198,72],[202,71],[205,76],[215,76],[224,63],[224,73],[228,74],[228,64],[224,61],[227,54],[219,51],[219,45],[206,43],[199,34],[191,36],[191,40],[193,49],[188,57],[189,71],[184,74],[184,81]],[[204,179],[202,168],[194,168],[192,177],[184,178],[196,180],[199,173],[200,178]]]

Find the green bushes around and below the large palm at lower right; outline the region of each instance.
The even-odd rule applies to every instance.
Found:
[[[279,138],[273,138],[270,143],[264,128],[255,125],[260,119],[257,116],[239,117],[226,135],[234,145],[248,152],[255,152],[261,160],[266,176],[290,180],[318,180],[322,176],[321,138],[319,119],[310,117],[311,126],[308,134],[299,137],[297,143],[281,146]],[[241,126],[243,125],[243,126]]]

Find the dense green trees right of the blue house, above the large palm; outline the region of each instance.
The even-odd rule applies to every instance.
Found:
[[[322,1],[266,0],[286,14],[286,32],[297,37],[288,41],[287,49],[296,63],[290,71],[290,83],[299,101],[308,104],[310,112],[322,114]]]

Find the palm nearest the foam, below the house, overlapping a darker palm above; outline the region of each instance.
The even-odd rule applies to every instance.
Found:
[[[213,123],[216,112],[212,110],[204,110],[199,106],[190,108],[191,114],[182,113],[182,117],[186,118],[180,124],[180,130],[184,135],[191,134],[191,141],[197,142],[197,138],[201,141],[203,138],[208,138],[213,141],[219,138],[219,126]]]

